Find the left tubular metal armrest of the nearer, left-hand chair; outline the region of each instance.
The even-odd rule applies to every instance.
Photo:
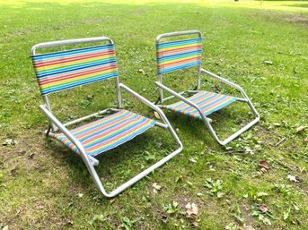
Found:
[[[82,143],[80,141],[78,141],[71,132],[69,132],[66,129],[66,126],[64,126],[63,124],[61,124],[61,122],[59,120],[57,120],[57,117],[52,115],[49,110],[47,109],[46,106],[44,105],[40,105],[40,110],[44,113],[44,115],[48,116],[48,119],[57,126],[57,128],[63,132],[66,137],[69,139],[69,141],[72,141],[72,143],[75,144],[75,146],[77,147],[77,149],[79,150],[80,154],[83,156],[85,155],[85,150],[84,150],[84,146],[82,145]],[[86,157],[86,156],[85,156]]]

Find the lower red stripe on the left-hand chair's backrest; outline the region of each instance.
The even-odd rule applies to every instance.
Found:
[[[57,81],[61,82],[61,81],[65,81],[67,79],[73,79],[75,77],[84,76],[84,75],[90,74],[90,73],[95,73],[95,72],[101,72],[101,71],[105,71],[105,70],[116,69],[117,67],[118,67],[117,64],[110,64],[109,66],[98,68],[98,69],[94,69],[94,70],[90,70],[90,71],[87,70],[87,71],[75,72],[75,73],[71,73],[71,74],[65,74],[64,73],[65,75],[61,75],[61,76],[53,77],[53,78],[47,78],[47,79],[44,79],[44,80],[40,80],[39,82],[40,82],[40,85],[45,85],[45,84],[52,83],[52,82],[57,82]]]

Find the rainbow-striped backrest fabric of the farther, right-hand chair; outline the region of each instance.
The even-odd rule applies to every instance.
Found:
[[[201,64],[201,46],[201,38],[156,44],[158,74]]]

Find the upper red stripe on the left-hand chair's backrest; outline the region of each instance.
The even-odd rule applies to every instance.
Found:
[[[115,51],[114,50],[109,50],[107,52],[99,52],[99,53],[95,53],[95,54],[90,54],[90,55],[77,55],[75,57],[70,57],[70,58],[61,58],[61,59],[57,59],[57,60],[53,60],[53,61],[39,61],[39,62],[35,62],[34,66],[36,68],[38,67],[42,67],[42,66],[49,66],[49,65],[53,65],[53,64],[66,64],[66,63],[70,63],[73,61],[78,61],[78,60],[84,60],[87,58],[91,58],[91,57],[96,57],[96,56],[100,56],[100,55],[114,55]]]

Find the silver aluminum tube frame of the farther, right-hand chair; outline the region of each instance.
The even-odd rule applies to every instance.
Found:
[[[172,38],[172,37],[177,37],[177,36],[184,36],[184,35],[197,35],[198,38],[202,38],[202,33],[199,30],[187,30],[187,31],[177,31],[177,32],[171,32],[171,33],[164,33],[161,34],[159,36],[156,37],[155,39],[155,43],[156,43],[156,47],[157,45],[160,43],[160,40],[162,38]],[[251,109],[251,112],[253,113],[253,115],[255,116],[255,118],[249,123],[246,124],[245,126],[243,126],[240,130],[238,130],[237,132],[234,132],[232,135],[230,135],[229,137],[227,137],[226,139],[224,139],[223,141],[221,141],[217,134],[216,131],[214,130],[211,122],[212,120],[210,118],[207,117],[207,115],[205,115],[202,110],[200,109],[200,107],[190,101],[188,98],[184,98],[183,95],[186,93],[197,93],[200,90],[201,87],[201,75],[205,74],[211,78],[214,78],[218,81],[221,81],[235,89],[238,89],[241,94],[242,94],[242,98],[236,98],[237,101],[239,102],[244,102],[247,103],[248,106]],[[244,89],[242,89],[242,87],[240,87],[239,85],[228,81],[226,79],[224,79],[221,76],[218,76],[216,74],[214,74],[213,72],[209,72],[203,68],[201,68],[201,64],[198,64],[198,81],[197,81],[197,86],[195,87],[195,89],[192,90],[186,90],[186,91],[182,91],[180,93],[166,87],[165,85],[163,85],[163,77],[162,74],[157,74],[158,75],[158,81],[155,81],[156,86],[159,87],[159,98],[156,100],[156,102],[154,103],[155,105],[158,104],[160,102],[160,105],[158,105],[159,107],[163,106],[163,102],[172,99],[172,98],[178,98],[181,101],[184,101],[185,103],[187,103],[189,106],[195,107],[198,110],[199,115],[201,116],[201,120],[204,122],[204,124],[207,126],[208,131],[210,132],[211,136],[221,145],[225,145],[227,143],[229,143],[230,141],[233,141],[233,139],[235,139],[236,137],[238,137],[239,135],[242,134],[242,132],[247,131],[248,129],[250,129],[254,124],[257,124],[260,121],[260,115],[257,112],[257,110],[255,109],[255,107],[252,105],[250,98],[248,98],[247,94],[245,93]],[[172,96],[168,97],[168,98],[163,98],[163,90],[169,92],[170,94],[172,94]]]

